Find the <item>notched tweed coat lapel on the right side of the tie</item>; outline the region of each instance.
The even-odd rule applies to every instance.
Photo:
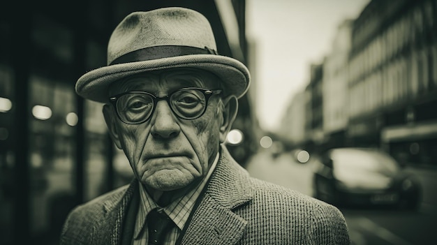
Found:
[[[182,237],[181,244],[236,244],[247,221],[232,209],[252,199],[249,174],[222,147],[207,190]]]

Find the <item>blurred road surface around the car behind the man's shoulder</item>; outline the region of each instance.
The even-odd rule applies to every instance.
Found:
[[[255,154],[246,169],[253,177],[312,195],[311,161],[297,163],[291,154],[273,156],[265,150]],[[437,171],[406,171],[415,172],[424,187],[420,207],[416,211],[341,208],[353,244],[437,244]]]

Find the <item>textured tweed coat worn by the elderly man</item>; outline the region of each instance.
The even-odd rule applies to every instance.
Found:
[[[61,244],[121,244],[137,181],[73,209]],[[332,205],[249,177],[225,147],[181,244],[350,244],[343,214]]]

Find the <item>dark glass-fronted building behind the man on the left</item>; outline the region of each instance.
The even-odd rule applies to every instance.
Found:
[[[244,0],[44,0],[0,8],[1,244],[57,244],[74,205],[131,179],[106,131],[102,105],[76,96],[74,84],[105,66],[108,39],[125,15],[165,6],[204,14],[218,52],[248,64]],[[249,96],[239,102],[235,128],[246,141],[229,148],[244,161],[253,151],[253,109]]]

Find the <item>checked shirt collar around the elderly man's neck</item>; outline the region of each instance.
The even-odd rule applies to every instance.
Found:
[[[218,158],[219,157],[217,153],[216,158],[211,165],[211,168],[209,168],[207,176],[202,179],[197,187],[193,188],[181,198],[178,198],[177,200],[171,202],[170,205],[168,205],[167,207],[159,207],[156,202],[154,202],[154,200],[151,198],[149,193],[147,193],[144,186],[142,186],[142,184],[140,183],[140,205],[138,207],[138,214],[135,221],[135,230],[133,233],[133,237],[135,239],[138,239],[138,236],[142,233],[142,230],[145,226],[147,214],[149,214],[149,211],[154,208],[158,208],[158,210],[162,210],[163,212],[165,212],[165,214],[167,214],[177,225],[179,230],[182,230],[186,221],[188,220],[188,216],[190,216],[191,211],[193,211],[195,201],[199,198],[199,195],[200,193],[202,193],[202,190],[207,184],[209,177],[211,177],[212,172],[214,172],[214,169],[216,168],[216,165],[218,163]]]

